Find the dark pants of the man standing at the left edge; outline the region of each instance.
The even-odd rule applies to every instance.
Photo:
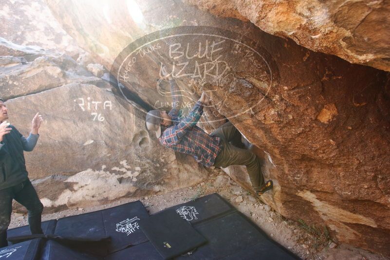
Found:
[[[34,186],[27,180],[0,190],[0,247],[7,246],[7,228],[11,222],[13,199],[27,208],[31,234],[43,234],[41,228],[43,205]]]

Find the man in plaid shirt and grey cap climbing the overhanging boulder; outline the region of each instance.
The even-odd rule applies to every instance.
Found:
[[[181,116],[178,108],[182,100],[178,86],[165,67],[162,68],[162,75],[169,79],[172,109],[168,113],[151,110],[146,116],[146,127],[156,132],[160,143],[174,151],[194,156],[205,167],[244,165],[257,194],[270,190],[272,180],[264,183],[260,159],[252,151],[238,148],[242,145],[241,133],[232,123],[223,124],[211,134],[196,126],[203,114],[203,106],[210,101],[206,93],[202,93],[188,116]]]

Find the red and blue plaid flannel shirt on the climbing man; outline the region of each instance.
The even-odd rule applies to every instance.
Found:
[[[168,127],[159,141],[167,148],[194,156],[195,160],[205,167],[214,165],[220,148],[221,138],[217,135],[210,135],[196,126],[203,114],[203,105],[196,102],[187,117],[179,116],[179,104],[181,96],[174,80],[170,80],[172,93],[172,110],[169,115],[172,117],[172,126]]]

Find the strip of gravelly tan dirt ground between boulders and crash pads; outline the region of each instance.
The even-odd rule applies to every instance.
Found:
[[[78,215],[140,200],[149,213],[156,213],[167,207],[188,202],[211,193],[218,193],[244,215],[249,217],[272,239],[288,248],[305,260],[389,260],[381,255],[358,249],[349,244],[336,244],[325,241],[324,248],[315,248],[313,236],[301,224],[287,220],[279,213],[263,204],[249,192],[232,181],[221,169],[208,169],[209,178],[195,186],[178,189],[166,194],[158,194],[144,198],[122,198],[111,204],[91,206],[88,208],[67,209],[52,214],[45,214],[42,220],[59,219]],[[27,215],[12,214],[10,228],[27,224]]]

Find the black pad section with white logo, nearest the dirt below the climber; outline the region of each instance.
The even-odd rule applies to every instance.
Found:
[[[236,211],[220,195],[213,193],[193,201],[169,207],[164,211],[175,211],[191,224],[200,223]]]

